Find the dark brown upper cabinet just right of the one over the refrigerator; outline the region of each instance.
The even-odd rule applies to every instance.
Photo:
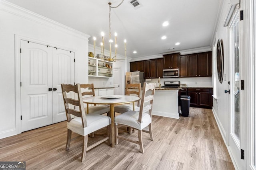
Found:
[[[157,78],[156,59],[144,61],[144,78]]]

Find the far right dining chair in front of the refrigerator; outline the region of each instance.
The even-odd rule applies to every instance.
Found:
[[[140,97],[140,88],[141,88],[141,83],[138,83],[138,84],[126,84],[125,95],[132,94],[132,95]],[[137,89],[138,89],[138,91],[136,91]],[[123,105],[115,106],[114,109],[115,109],[115,112],[117,112],[117,113],[124,113],[126,111],[133,110],[133,105],[131,105],[131,104],[123,104]],[[137,106],[134,106],[134,110],[135,111],[139,111],[140,110],[140,101],[137,102]]]

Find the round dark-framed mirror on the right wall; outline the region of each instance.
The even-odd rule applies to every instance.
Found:
[[[223,48],[222,48],[222,43],[221,43],[220,39],[218,39],[218,42],[217,42],[216,54],[217,54],[218,79],[219,79],[219,82],[222,83],[222,80],[223,80]]]

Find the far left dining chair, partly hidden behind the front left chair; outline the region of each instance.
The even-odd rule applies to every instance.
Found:
[[[80,84],[80,87],[82,88],[82,96],[95,96],[95,92],[94,92],[94,84]],[[88,88],[88,89],[87,89]],[[88,106],[88,105],[87,105]],[[110,108],[106,107],[106,106],[96,106],[96,104],[94,104],[94,106],[89,106],[88,107],[88,112],[89,113],[94,113],[94,114],[104,114],[104,113],[108,113],[108,115],[110,114]],[[87,113],[87,107],[85,108],[85,113]]]

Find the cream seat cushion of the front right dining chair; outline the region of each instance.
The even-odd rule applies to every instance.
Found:
[[[127,125],[135,129],[142,130],[151,123],[151,117],[148,113],[142,113],[142,122],[138,121],[138,111],[127,111],[115,117],[115,123]]]

